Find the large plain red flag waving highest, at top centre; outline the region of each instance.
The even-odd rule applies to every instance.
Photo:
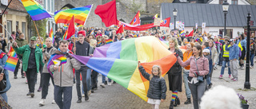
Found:
[[[109,27],[110,25],[118,25],[115,0],[107,2],[104,5],[98,5],[96,10],[94,10],[94,13],[102,18],[102,22],[105,23],[106,27]]]

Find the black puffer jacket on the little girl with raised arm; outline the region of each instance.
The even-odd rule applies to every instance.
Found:
[[[138,69],[146,80],[150,80],[150,74],[142,66]],[[153,76],[146,96],[150,99],[166,99],[166,80],[159,76]]]

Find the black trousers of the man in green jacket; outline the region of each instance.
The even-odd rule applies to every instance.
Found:
[[[34,92],[35,79],[37,78],[37,68],[27,68],[26,80],[30,92]]]

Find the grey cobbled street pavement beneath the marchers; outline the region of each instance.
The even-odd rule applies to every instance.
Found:
[[[218,70],[214,70],[212,83],[214,86],[224,85],[226,87],[234,88],[239,94],[245,96],[246,99],[250,102],[250,109],[256,108],[256,92],[254,91],[245,91],[243,90],[244,82],[245,82],[245,72],[246,70],[239,70],[239,78],[238,81],[233,82],[228,78],[227,68],[225,69],[225,73],[223,79],[218,79],[220,74],[221,66],[218,66]],[[250,84],[251,88],[256,88],[256,67],[250,69]],[[46,98],[46,105],[43,107],[39,107],[38,103],[41,99],[41,92],[38,92],[39,79],[38,75],[38,84],[35,86],[35,96],[34,98],[30,98],[30,96],[26,96],[28,92],[28,86],[26,84],[26,79],[23,79],[20,76],[20,72],[18,73],[18,79],[14,79],[14,73],[10,73],[10,83],[12,88],[7,91],[8,102],[10,106],[14,107],[14,109],[56,109],[58,108],[57,104],[52,104],[52,100],[54,99],[54,87],[51,84],[49,87],[48,95]],[[84,109],[148,109],[152,108],[149,103],[146,103],[144,100],[140,99],[137,95],[134,95],[131,91],[128,91],[126,88],[123,88],[119,84],[112,84],[111,86],[107,86],[106,88],[101,88],[99,85],[102,81],[102,76],[98,76],[98,90],[94,91],[90,95],[89,101],[85,101],[84,97],[82,98],[82,103],[76,103],[77,91],[75,88],[75,84],[73,86],[73,97],[71,101],[71,108],[84,108]],[[168,86],[167,86],[168,87]],[[160,104],[160,108],[169,108],[170,99],[171,99],[171,91],[167,91],[166,100]],[[193,108],[192,104],[185,105],[186,94],[184,90],[184,85],[182,88],[182,92],[178,92],[178,97],[181,100],[181,105],[178,107],[174,107],[175,109],[190,109]]]

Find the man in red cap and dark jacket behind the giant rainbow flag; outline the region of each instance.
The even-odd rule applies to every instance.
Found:
[[[89,49],[90,45],[85,41],[86,32],[79,31],[78,32],[78,41],[75,42],[74,53],[79,56],[89,56]],[[81,64],[81,68],[79,70],[75,70],[76,76],[76,88],[78,92],[78,101],[77,103],[82,102],[82,95],[81,95],[81,87],[80,87],[80,73],[82,74],[82,85],[83,91],[85,93],[85,100],[89,99],[89,95],[87,91],[90,91],[90,74],[91,70],[88,70],[88,67],[84,64]],[[89,88],[89,89],[88,89]]]

